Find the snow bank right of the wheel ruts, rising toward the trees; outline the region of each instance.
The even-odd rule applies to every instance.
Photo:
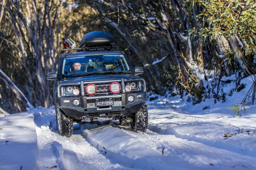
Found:
[[[226,149],[243,155],[256,157],[256,106],[246,106],[246,112],[232,113],[233,105],[240,104],[250,89],[254,76],[241,80],[245,88],[233,92],[226,102],[213,99],[192,105],[175,97],[152,95],[155,100],[148,101],[148,129],[158,134],[175,135],[182,139],[200,142],[209,146]],[[234,76],[225,77],[223,81],[234,80]],[[222,87],[228,93],[234,84]],[[255,102],[256,103],[256,102]],[[228,136],[224,137],[224,133]]]

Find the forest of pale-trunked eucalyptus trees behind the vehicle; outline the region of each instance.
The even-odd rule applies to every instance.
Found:
[[[222,77],[256,73],[255,0],[0,0],[0,108],[53,104],[61,39],[111,33],[148,91],[221,98]],[[205,85],[205,81],[211,82]],[[240,87],[241,88],[241,87]],[[237,89],[231,89],[237,90]]]

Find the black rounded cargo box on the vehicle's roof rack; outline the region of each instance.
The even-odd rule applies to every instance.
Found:
[[[113,46],[114,37],[110,33],[103,31],[93,31],[84,35],[79,48]]]

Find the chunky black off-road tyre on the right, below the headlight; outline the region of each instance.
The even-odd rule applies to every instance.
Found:
[[[131,117],[131,127],[134,131],[141,131],[146,132],[148,127],[148,108],[147,104],[143,103],[143,105],[140,107],[140,110],[134,114],[134,116]]]

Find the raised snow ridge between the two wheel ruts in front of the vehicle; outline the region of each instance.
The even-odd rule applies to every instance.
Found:
[[[84,135],[86,140],[102,151],[111,162],[118,162],[123,166],[141,169],[196,168],[177,156],[167,157],[159,154],[136,137],[110,125],[85,129]]]

